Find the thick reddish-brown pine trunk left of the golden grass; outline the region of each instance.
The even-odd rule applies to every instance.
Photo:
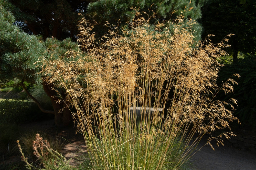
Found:
[[[52,89],[51,85],[47,84],[45,81],[42,83],[46,94],[50,97],[51,103],[54,109],[54,119],[55,124],[59,127],[68,126],[72,121],[71,111],[69,110],[67,104],[63,101],[57,101],[56,91]],[[62,96],[63,97],[63,96]]]

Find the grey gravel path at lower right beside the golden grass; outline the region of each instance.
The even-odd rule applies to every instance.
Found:
[[[200,141],[198,147],[202,147],[205,141]],[[195,153],[191,159],[194,165],[192,168],[200,170],[256,169],[256,153],[228,146],[215,146],[214,149],[215,151],[209,145],[206,145]]]

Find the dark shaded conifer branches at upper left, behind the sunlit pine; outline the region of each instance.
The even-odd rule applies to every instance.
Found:
[[[78,11],[86,10],[90,1],[72,0],[1,0],[3,6],[12,11],[16,24],[28,34],[42,35],[44,39],[55,37],[63,40],[75,39]]]

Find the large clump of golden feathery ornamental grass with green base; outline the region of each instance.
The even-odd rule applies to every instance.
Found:
[[[237,120],[226,109],[235,100],[215,99],[236,83],[216,84],[216,58],[227,45],[194,42],[182,18],[152,26],[140,13],[136,17],[121,31],[106,24],[110,30],[101,43],[82,19],[78,42],[84,52],[41,62],[45,80],[64,87],[65,100],[76,109],[93,169],[181,168],[203,135]],[[208,144],[223,144],[220,137],[230,135]]]

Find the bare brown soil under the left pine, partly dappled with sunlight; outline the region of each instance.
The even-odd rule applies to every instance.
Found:
[[[60,129],[56,127],[56,125],[54,124],[54,120],[44,120],[41,122],[23,124],[20,125],[19,128],[21,132],[26,132],[34,129],[37,132],[39,132],[39,134],[47,133],[51,136],[59,135],[62,138],[62,141],[66,142],[65,146],[61,150],[61,154],[64,155],[67,160],[72,158],[70,160],[71,165],[79,166],[79,164],[82,163],[82,161],[79,160],[79,158],[81,158],[87,153],[87,147],[85,145],[83,135],[79,133],[76,134],[76,127],[74,126],[69,126]],[[7,157],[1,155],[1,158],[3,157],[4,159],[0,160],[0,169],[5,170],[5,167],[10,164],[21,164],[18,163],[21,162],[20,156],[21,154],[18,154],[17,156]]]

